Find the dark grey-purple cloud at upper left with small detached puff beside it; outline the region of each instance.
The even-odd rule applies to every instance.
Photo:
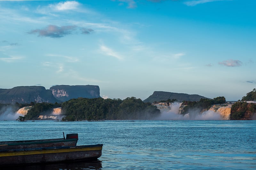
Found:
[[[69,34],[76,33],[76,25],[57,26],[48,25],[43,29],[35,29],[28,32],[28,34],[37,34],[39,37],[61,38]],[[80,28],[82,34],[91,34],[94,30],[90,28]]]

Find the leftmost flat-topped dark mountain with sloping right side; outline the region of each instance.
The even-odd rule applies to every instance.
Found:
[[[12,89],[0,89],[0,103],[55,103],[56,101],[51,90],[46,90],[43,86],[18,86]]]

